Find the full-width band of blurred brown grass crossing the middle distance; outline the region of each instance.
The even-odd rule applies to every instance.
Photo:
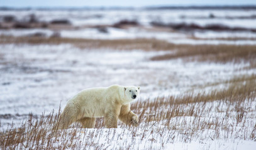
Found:
[[[182,58],[186,61],[208,61],[218,63],[250,63],[255,68],[256,46],[251,45],[189,45],[171,44],[157,39],[75,39],[45,37],[1,36],[0,44],[73,44],[86,49],[119,49],[144,51],[173,51],[172,54],[154,56],[153,61]]]

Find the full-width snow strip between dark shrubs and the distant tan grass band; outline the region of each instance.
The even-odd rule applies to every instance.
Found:
[[[155,38],[166,40],[174,44],[236,44],[236,45],[256,45],[255,39],[204,39],[204,38],[256,38],[256,33],[252,32],[163,32],[147,31],[138,27],[129,29],[106,28],[108,33],[100,32],[96,28],[86,28],[77,30],[58,31],[60,36],[69,38],[85,39],[136,39],[136,38]],[[30,36],[36,33],[43,33],[46,37],[52,36],[56,31],[52,29],[0,29],[0,35],[6,36]],[[191,36],[201,39],[192,39]]]

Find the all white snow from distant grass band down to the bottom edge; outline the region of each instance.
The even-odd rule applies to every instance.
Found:
[[[159,101],[159,97],[169,101],[169,96],[179,98],[192,93],[194,96],[196,93],[209,94],[216,89],[228,88],[230,84],[225,84],[225,81],[235,76],[255,74],[255,69],[243,69],[250,66],[248,63],[150,59],[172,53],[140,49],[79,49],[72,44],[2,44],[1,130],[10,128],[11,124],[13,128],[19,127],[30,113],[35,118],[31,123],[35,124],[36,118],[39,119],[42,113],[48,115],[53,109],[57,112],[60,103],[63,110],[69,98],[85,88],[111,84],[136,85],[142,89],[141,98],[133,103],[136,105],[133,111],[140,116],[138,128],[128,128],[122,123],[119,123],[118,129],[104,129],[102,126],[79,129],[75,126],[66,131],[70,134],[65,138],[59,136],[59,139],[55,139],[57,141],[52,141],[53,146],[62,148],[62,144],[67,144],[65,149],[255,148],[252,135],[256,123],[255,97],[245,99],[241,104],[216,99],[206,103],[174,103],[173,106],[168,103],[147,108],[148,103]],[[140,104],[146,109],[138,107]],[[238,113],[241,113],[236,113],[238,106],[244,107],[243,110],[247,112],[241,121],[237,119]],[[168,118],[175,109],[185,114],[177,113]],[[194,114],[187,114],[191,113],[191,109]],[[216,128],[220,128],[220,131]],[[40,141],[42,146],[45,146],[45,142]],[[26,148],[23,146],[26,144],[33,145],[25,142],[15,148]]]

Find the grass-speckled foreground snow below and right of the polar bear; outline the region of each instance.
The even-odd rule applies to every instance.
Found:
[[[165,99],[166,100],[166,99]],[[252,99],[251,99],[252,100]],[[47,141],[53,142],[55,148],[64,149],[255,149],[255,101],[245,100],[248,110],[237,121],[235,103],[226,101],[213,101],[207,103],[191,103],[169,106],[169,108],[153,107],[155,111],[147,111],[140,119],[141,123],[136,128],[129,128],[119,124],[117,129],[83,129],[70,128],[58,131],[58,138],[51,136],[51,129],[39,141],[37,148],[45,148]],[[167,112],[186,112],[193,110],[191,116],[175,116],[173,118],[154,121],[159,113],[165,117]],[[163,111],[161,111],[163,110]],[[180,111],[179,111],[180,110]],[[136,110],[135,110],[136,111]],[[142,110],[140,110],[142,111]],[[137,113],[142,113],[137,111]],[[147,119],[152,121],[147,121]],[[31,124],[35,124],[32,121]],[[47,124],[47,123],[45,123]],[[29,131],[28,131],[29,132]],[[34,135],[37,136],[37,135]],[[33,141],[18,144],[18,148],[25,148],[26,144],[36,147]]]

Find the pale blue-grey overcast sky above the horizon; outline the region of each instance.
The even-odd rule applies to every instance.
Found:
[[[9,7],[110,7],[110,6],[190,6],[190,5],[256,5],[256,0],[0,0]]]

